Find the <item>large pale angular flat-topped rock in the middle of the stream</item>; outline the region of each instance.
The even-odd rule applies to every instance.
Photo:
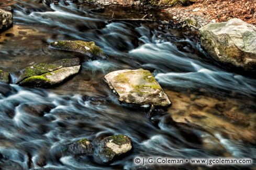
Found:
[[[127,104],[167,107],[171,104],[159,83],[148,70],[119,70],[108,73],[105,82]]]

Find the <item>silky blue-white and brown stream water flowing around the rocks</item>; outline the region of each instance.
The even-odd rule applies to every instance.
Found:
[[[208,169],[193,166],[136,166],[133,158],[238,157],[256,160],[256,81],[219,65],[203,51],[196,33],[155,23],[108,22],[142,18],[144,10],[40,1],[8,1],[14,27],[1,33],[0,69],[11,73],[35,63],[79,57],[80,74],[58,87],[26,88],[0,83],[0,165],[2,169]],[[149,12],[155,19],[162,15]],[[162,16],[164,18],[164,16]],[[107,59],[54,50],[58,40],[95,41]],[[172,106],[147,117],[147,109],[120,104],[103,81],[122,69],[155,70]],[[73,157],[66,145],[126,134],[133,150],[110,165],[97,155]],[[229,166],[228,169],[255,169]],[[213,169],[227,169],[215,166]]]

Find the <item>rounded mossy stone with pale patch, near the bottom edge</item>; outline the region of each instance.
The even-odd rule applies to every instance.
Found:
[[[129,137],[123,134],[113,135],[99,143],[98,156],[103,163],[110,163],[131,149],[132,142]]]

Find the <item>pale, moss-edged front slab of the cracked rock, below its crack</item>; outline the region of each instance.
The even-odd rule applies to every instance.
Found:
[[[77,74],[80,71],[81,65],[75,65],[70,67],[63,67],[61,69],[48,72],[41,75],[31,76],[21,81],[21,86],[30,87],[50,87],[62,83],[66,78]]]

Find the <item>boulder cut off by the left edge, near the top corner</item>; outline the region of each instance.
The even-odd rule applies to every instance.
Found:
[[[0,9],[0,32],[3,32],[13,26],[13,14]]]

